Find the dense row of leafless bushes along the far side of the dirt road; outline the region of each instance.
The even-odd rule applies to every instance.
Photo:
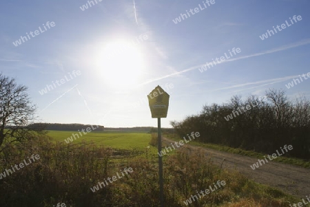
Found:
[[[172,121],[180,136],[199,131],[198,142],[224,144],[271,155],[285,144],[285,153],[310,160],[310,101],[289,100],[282,89],[269,89],[265,96],[233,96],[223,105],[205,105],[198,115]]]

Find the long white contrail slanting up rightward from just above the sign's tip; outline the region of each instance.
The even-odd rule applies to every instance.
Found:
[[[262,56],[262,55],[265,55],[265,54],[271,54],[271,53],[280,52],[280,51],[283,51],[283,50],[289,50],[289,49],[294,48],[294,47],[299,47],[299,46],[302,46],[302,45],[308,45],[309,43],[310,43],[310,39],[304,39],[304,40],[299,41],[297,43],[291,43],[289,45],[284,45],[282,47],[278,47],[278,48],[274,48],[274,49],[271,49],[271,50],[267,50],[265,52],[259,52],[259,53],[250,54],[250,55],[247,55],[247,56],[241,56],[240,58],[229,59],[227,61],[223,61],[223,62],[220,62],[218,64],[227,63],[227,62],[231,62],[231,61],[238,61],[238,60],[241,60],[241,59],[251,58],[251,57],[254,57],[254,56]],[[178,74],[183,74],[183,73],[189,72],[189,71],[191,71],[193,69],[197,69],[199,67],[203,67],[204,65],[205,64],[203,64],[203,65],[196,65],[196,66],[193,66],[193,67],[189,67],[187,69],[183,69],[180,72],[174,72],[173,74],[169,74],[169,75],[166,75],[166,76],[163,76],[163,77],[160,77],[160,78],[155,78],[155,79],[152,79],[152,80],[147,80],[146,82],[141,83],[140,85],[138,85],[138,87],[142,86],[142,85],[146,85],[148,83],[152,83],[152,82],[157,81],[157,80],[162,80],[164,78],[168,78],[170,76],[176,76]]]

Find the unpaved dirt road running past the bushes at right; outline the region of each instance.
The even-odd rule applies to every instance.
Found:
[[[163,143],[172,142],[175,141],[163,138]],[[218,165],[225,158],[223,168],[236,168],[237,171],[258,183],[280,188],[301,198],[310,195],[310,169],[269,161],[267,164],[253,170],[250,166],[258,162],[257,158],[206,149],[201,146],[191,146],[189,144],[187,146],[190,149],[202,149],[207,155],[211,155],[214,163]]]

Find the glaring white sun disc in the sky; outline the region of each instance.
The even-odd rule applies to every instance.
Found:
[[[144,66],[139,49],[138,45],[129,41],[114,41],[105,45],[97,66],[107,85],[120,89],[138,84]]]

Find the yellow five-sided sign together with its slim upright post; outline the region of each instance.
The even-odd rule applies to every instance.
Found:
[[[161,157],[161,118],[167,117],[169,106],[169,94],[167,94],[159,85],[147,95],[149,99],[149,109],[151,109],[152,118],[157,118],[158,135],[158,164],[159,164],[159,190],[161,198],[161,207],[163,207],[163,157]]]

